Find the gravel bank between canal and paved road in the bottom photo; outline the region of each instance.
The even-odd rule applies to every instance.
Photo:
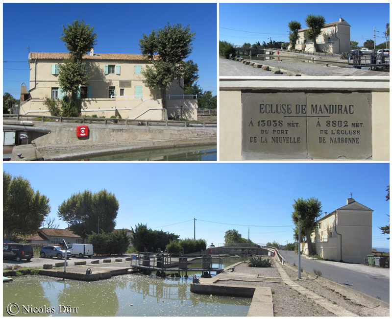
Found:
[[[276,269],[276,261],[274,260],[273,267],[270,268],[252,268],[243,263],[236,266],[234,272],[230,272],[231,277],[236,274],[238,279],[220,281],[220,285],[251,285],[270,287],[272,291],[274,316],[277,317],[310,317],[322,316],[333,317],[333,313],[321,307],[317,303],[308,299],[304,294],[300,294],[289,285],[286,285],[280,278],[279,271]],[[358,316],[389,316],[389,309],[383,307],[374,308],[371,303],[363,302],[357,304],[356,302],[347,299],[345,296],[322,286],[315,280],[315,276],[309,276],[305,273],[302,274],[302,279],[297,280],[297,272],[290,267],[284,266],[284,270],[289,275],[290,279],[303,286],[305,289],[318,294],[319,296],[329,300],[334,305],[338,305]],[[254,276],[250,276],[254,275]],[[265,277],[262,279],[262,277]],[[266,278],[270,277],[270,278]],[[240,280],[241,279],[241,280]]]

